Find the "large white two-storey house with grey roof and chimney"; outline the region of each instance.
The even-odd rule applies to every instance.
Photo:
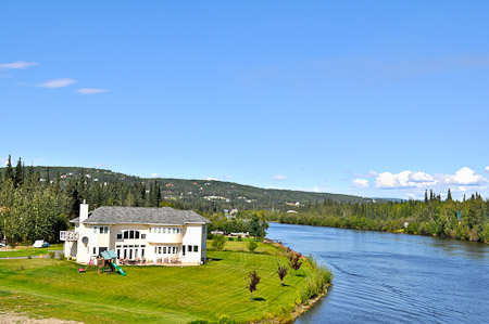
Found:
[[[171,207],[99,207],[88,212],[82,204],[72,232],[62,231],[64,255],[79,263],[103,250],[115,250],[118,259],[146,259],[149,263],[177,260],[181,264],[205,262],[204,217]]]

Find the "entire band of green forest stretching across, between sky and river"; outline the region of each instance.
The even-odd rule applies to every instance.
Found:
[[[261,223],[266,220],[489,242],[489,200],[484,200],[477,193],[462,202],[453,200],[450,191],[446,200],[430,191],[429,194],[426,192],[424,200],[376,199],[375,203],[366,198],[350,198],[353,196],[308,196],[306,193],[301,193],[302,198],[309,197],[310,200],[302,200],[299,206],[289,206],[286,202],[293,197],[290,195],[294,192],[277,191],[286,195],[278,198],[273,191],[256,189],[267,192],[268,199],[271,195],[275,196],[272,200],[259,204],[234,205],[233,200],[213,200],[200,196],[186,198],[184,192],[176,194],[180,198],[168,197],[168,187],[177,183],[175,179],[171,182],[161,179],[143,180],[98,169],[92,169],[91,172],[87,169],[62,171],[60,168],[25,167],[21,158],[13,167],[9,156],[7,167],[0,172],[0,233],[9,244],[28,244],[35,239],[58,241],[59,231],[66,230],[68,220],[78,216],[79,204],[84,199],[89,204],[90,210],[100,206],[170,206],[193,209],[213,221],[210,231],[246,232],[249,228],[247,222],[258,216]],[[230,186],[213,187],[215,183],[211,181],[189,180],[183,180],[183,183],[193,187],[205,186],[208,193],[214,194],[221,193],[223,187],[230,190],[235,185],[229,183]],[[213,189],[209,191],[208,187]],[[260,196],[260,192],[251,190],[253,187],[243,187],[250,191],[249,196]],[[314,200],[313,197],[325,198]],[[226,218],[225,208],[237,206],[239,211],[236,217]]]

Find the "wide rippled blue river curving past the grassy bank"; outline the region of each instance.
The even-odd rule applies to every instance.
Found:
[[[489,323],[489,245],[271,223],[268,238],[335,274],[296,323]]]

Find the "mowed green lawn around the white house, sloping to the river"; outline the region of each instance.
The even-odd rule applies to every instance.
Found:
[[[239,244],[246,249],[244,242],[227,248]],[[210,251],[212,261],[201,267],[123,267],[127,276],[78,274],[78,264],[55,259],[0,260],[0,309],[86,323],[187,323],[221,315],[248,322],[290,314],[311,270],[303,265],[281,287],[276,267],[285,256],[269,245],[259,249],[274,255]],[[246,276],[252,270],[262,280],[251,302]]]

